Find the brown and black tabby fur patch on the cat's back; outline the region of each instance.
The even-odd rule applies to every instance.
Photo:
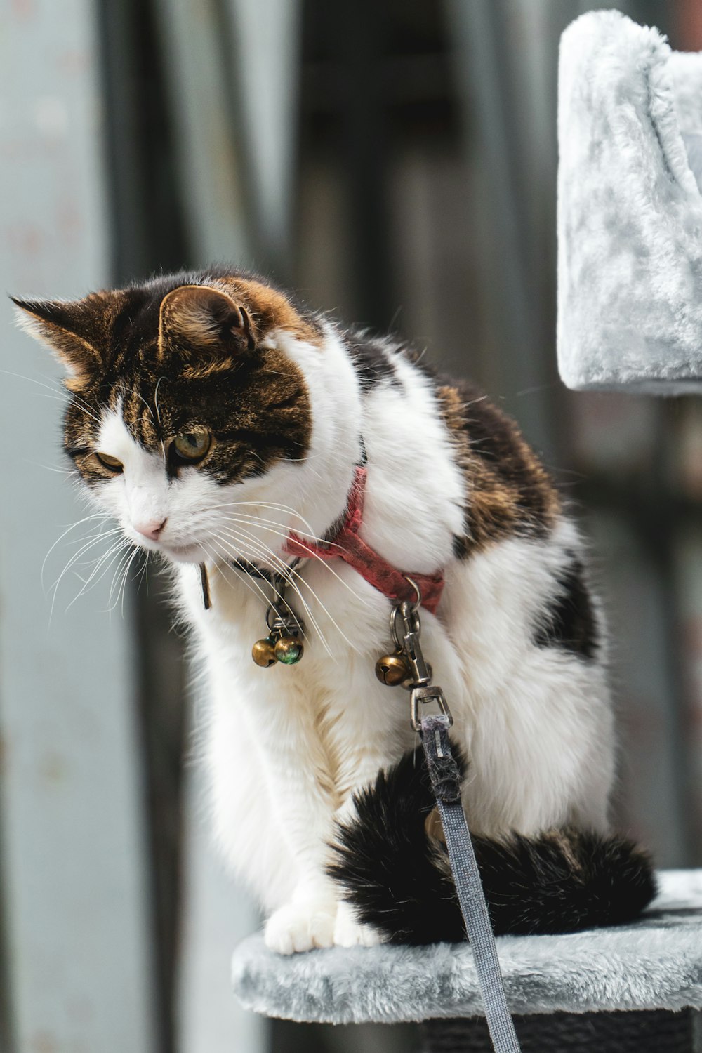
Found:
[[[560,501],[517,425],[469,383],[440,383],[437,397],[466,481],[465,536],[457,554],[512,535],[540,536]]]

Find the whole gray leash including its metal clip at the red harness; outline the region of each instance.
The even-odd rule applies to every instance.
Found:
[[[412,726],[419,732],[424,749],[461,914],[473,948],[493,1049],[495,1053],[520,1053],[519,1040],[507,1007],[480,871],[461,803],[461,775],[448,738],[448,729],[454,719],[443,691],[432,684],[432,670],[424,661],[420,644],[419,590],[417,593],[417,603],[412,604],[407,601],[398,603],[390,615],[390,631],[398,647],[396,657],[406,663],[408,676],[403,683],[412,692]],[[399,632],[398,621],[401,622]],[[382,662],[381,658],[379,664]],[[439,707],[439,713],[423,714],[424,706],[432,702]]]

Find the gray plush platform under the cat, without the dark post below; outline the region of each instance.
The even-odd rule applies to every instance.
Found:
[[[642,919],[568,936],[501,936],[513,1013],[702,1009],[702,870],[663,871]],[[289,957],[261,935],[236,949],[234,989],[266,1016],[332,1024],[482,1013],[467,945],[333,948]]]

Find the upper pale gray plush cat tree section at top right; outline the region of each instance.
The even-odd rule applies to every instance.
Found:
[[[702,54],[583,15],[561,40],[558,123],[561,377],[702,391]]]

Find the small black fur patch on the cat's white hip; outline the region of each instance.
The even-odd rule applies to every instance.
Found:
[[[540,648],[562,648],[581,658],[594,658],[599,636],[585,572],[574,557],[558,579],[558,594],[543,613],[534,642]]]

